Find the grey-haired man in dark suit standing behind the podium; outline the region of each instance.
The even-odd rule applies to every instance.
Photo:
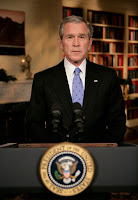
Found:
[[[86,59],[92,44],[91,25],[81,17],[67,17],[59,27],[59,36],[65,59],[34,76],[27,115],[31,141],[121,142],[126,128],[120,84],[114,69]],[[79,108],[83,113],[84,131],[79,134],[74,125],[72,101],[75,68],[81,70],[84,89]],[[61,122],[58,133],[51,129],[54,109],[60,111],[56,116]]]

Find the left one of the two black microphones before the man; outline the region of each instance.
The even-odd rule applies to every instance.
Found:
[[[59,104],[54,104],[51,109],[52,114],[52,132],[58,133],[61,126],[61,108]]]

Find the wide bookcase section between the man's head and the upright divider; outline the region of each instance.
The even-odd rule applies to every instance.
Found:
[[[87,20],[93,26],[93,44],[88,59],[112,67],[119,78],[124,69],[124,15],[87,10]]]

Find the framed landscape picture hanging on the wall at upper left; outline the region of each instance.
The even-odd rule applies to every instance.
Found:
[[[25,13],[0,9],[0,55],[25,55]]]

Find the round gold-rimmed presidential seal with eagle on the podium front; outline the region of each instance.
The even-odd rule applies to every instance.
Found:
[[[89,152],[70,142],[49,148],[40,162],[43,184],[60,196],[73,196],[84,191],[92,182],[94,170]]]

